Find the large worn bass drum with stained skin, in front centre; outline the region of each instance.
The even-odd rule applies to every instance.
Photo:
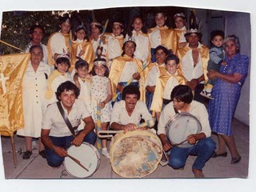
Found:
[[[110,163],[123,178],[142,178],[154,172],[162,158],[162,143],[150,130],[115,134],[110,143]]]

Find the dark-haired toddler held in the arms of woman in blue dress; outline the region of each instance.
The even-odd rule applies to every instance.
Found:
[[[210,33],[210,40],[213,46],[210,48],[210,60],[208,61],[207,70],[219,70],[221,65],[226,65],[222,59],[224,58],[223,48],[224,32],[222,30],[213,30]],[[214,86],[214,79],[209,79],[202,92],[202,96],[210,99],[214,99],[211,95],[211,90]]]

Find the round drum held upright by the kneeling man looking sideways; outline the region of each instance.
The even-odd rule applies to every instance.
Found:
[[[176,114],[166,124],[166,135],[170,143],[182,148],[193,146],[186,141],[186,138],[190,134],[200,133],[201,130],[202,126],[198,118],[189,113]]]

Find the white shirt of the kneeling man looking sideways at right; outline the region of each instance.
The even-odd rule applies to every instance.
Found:
[[[180,112],[180,111],[178,111]],[[210,124],[208,120],[208,113],[206,110],[206,106],[204,106],[201,102],[192,101],[190,103],[190,110],[188,113],[194,115],[196,118],[198,118],[198,121],[202,125],[202,131],[201,133],[206,134],[206,138],[210,137],[211,130],[210,130]],[[159,134],[166,134],[166,124],[169,122],[171,118],[173,118],[175,115],[174,111],[174,104],[173,102],[170,102],[167,104],[160,115],[159,122],[158,122],[158,135]]]

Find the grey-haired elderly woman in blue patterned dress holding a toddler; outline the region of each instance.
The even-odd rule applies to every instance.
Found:
[[[213,88],[213,100],[209,102],[209,120],[213,132],[218,134],[218,150],[212,158],[226,157],[226,146],[230,150],[231,164],[240,162],[241,156],[235,145],[232,132],[232,118],[241,94],[242,83],[246,78],[249,58],[240,54],[239,38],[235,35],[224,39],[226,66],[219,72],[209,71],[209,78],[217,78]]]

